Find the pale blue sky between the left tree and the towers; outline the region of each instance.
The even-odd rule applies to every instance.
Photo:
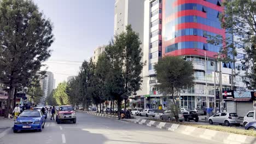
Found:
[[[94,49],[108,44],[114,34],[114,0],[33,0],[53,22],[55,41],[44,64],[57,84],[77,75]],[[46,67],[42,68],[45,69]]]

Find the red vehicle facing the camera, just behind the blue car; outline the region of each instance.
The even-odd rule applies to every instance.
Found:
[[[77,116],[72,106],[62,105],[59,107],[59,111],[56,115],[56,122],[57,124],[60,124],[62,121],[71,121],[73,123],[77,122]]]

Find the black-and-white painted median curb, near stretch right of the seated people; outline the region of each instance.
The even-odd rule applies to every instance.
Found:
[[[137,119],[136,121],[132,121],[131,119],[125,119],[125,121],[147,125],[148,127],[165,129],[168,131],[175,131],[177,133],[195,136],[201,139],[207,139],[225,144],[256,144],[256,137],[252,136],[230,134],[223,131],[196,128],[182,124],[156,122],[150,121],[148,119]]]

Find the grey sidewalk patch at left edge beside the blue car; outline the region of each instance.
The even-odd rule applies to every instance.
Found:
[[[7,133],[9,129],[13,127],[13,118],[0,117],[0,139]]]

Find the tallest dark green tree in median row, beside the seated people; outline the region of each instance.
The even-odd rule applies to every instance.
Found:
[[[141,41],[139,40],[139,34],[132,31],[131,25],[128,25],[126,26],[126,32],[121,33],[115,39],[115,44],[123,47],[123,76],[125,81],[123,98],[125,100],[124,109],[126,109],[128,97],[135,94],[142,83],[142,77],[140,76],[143,68]]]

